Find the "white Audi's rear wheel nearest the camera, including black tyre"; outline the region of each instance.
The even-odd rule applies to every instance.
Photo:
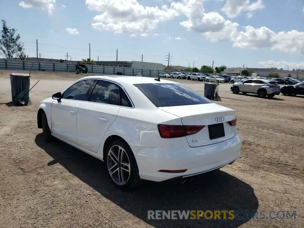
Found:
[[[111,143],[106,161],[109,175],[118,188],[135,188],[141,184],[136,159],[125,141],[115,140]]]

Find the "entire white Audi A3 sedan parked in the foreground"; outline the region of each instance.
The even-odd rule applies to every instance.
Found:
[[[102,161],[113,183],[165,181],[232,164],[240,156],[236,112],[174,81],[90,76],[43,100],[38,128]]]

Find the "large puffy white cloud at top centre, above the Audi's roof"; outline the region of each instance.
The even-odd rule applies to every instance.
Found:
[[[163,5],[144,7],[136,0],[86,0],[88,9],[100,11],[101,15],[94,17],[95,29],[112,30],[115,33],[148,32],[157,27],[161,21],[173,19],[176,12]]]

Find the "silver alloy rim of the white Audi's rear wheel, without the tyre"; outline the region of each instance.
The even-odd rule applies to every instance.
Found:
[[[108,171],[117,185],[125,185],[131,174],[130,159],[126,150],[119,145],[110,148],[107,157]]]

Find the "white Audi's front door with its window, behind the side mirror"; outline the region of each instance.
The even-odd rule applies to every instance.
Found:
[[[95,79],[81,80],[63,92],[60,101],[54,100],[51,107],[51,131],[71,143],[76,143],[78,107],[86,99]]]

